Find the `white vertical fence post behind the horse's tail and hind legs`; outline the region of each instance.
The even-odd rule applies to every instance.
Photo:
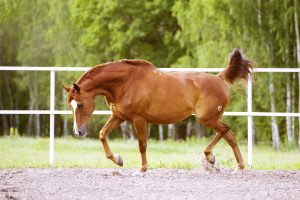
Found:
[[[247,84],[247,112],[248,112],[248,166],[252,167],[252,77],[248,76],[248,84]]]

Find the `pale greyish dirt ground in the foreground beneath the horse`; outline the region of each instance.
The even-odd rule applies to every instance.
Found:
[[[0,199],[300,199],[300,171],[0,169]]]

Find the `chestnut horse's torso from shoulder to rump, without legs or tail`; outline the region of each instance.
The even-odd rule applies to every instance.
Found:
[[[210,115],[229,102],[228,88],[218,76],[163,72],[143,60],[121,63],[132,70],[118,95],[119,110],[126,115],[141,116],[151,123],[174,123],[192,113],[198,118]]]

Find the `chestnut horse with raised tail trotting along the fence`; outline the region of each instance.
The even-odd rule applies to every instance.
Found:
[[[254,66],[254,62],[238,49],[229,54],[227,66],[216,75],[163,72],[152,63],[138,59],[96,65],[71,87],[63,86],[73,113],[74,135],[86,135],[86,124],[95,109],[94,98],[103,95],[112,111],[99,132],[106,157],[123,166],[122,157],[111,151],[107,135],[122,122],[129,121],[135,129],[141,154],[138,172],[143,174],[148,169],[147,124],[176,123],[194,114],[199,123],[216,133],[204,150],[204,158],[211,164],[215,163],[212,150],[223,137],[234,152],[235,171],[241,172],[245,168],[243,157],[233,131],[221,117],[231,99],[230,85],[238,80],[246,81]]]

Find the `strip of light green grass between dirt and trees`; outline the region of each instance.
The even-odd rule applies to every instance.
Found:
[[[138,168],[140,154],[137,141],[109,141],[114,153],[122,155],[125,168]],[[207,139],[157,142],[150,140],[147,155],[150,168],[200,168],[202,151],[208,144]],[[239,142],[245,161],[247,145]],[[234,168],[235,159],[231,148],[221,141],[214,154],[223,167]],[[58,138],[55,139],[55,164],[50,166],[48,138],[0,138],[0,168],[27,167],[92,167],[118,168],[105,158],[102,145],[98,140]],[[300,151],[274,151],[271,145],[258,145],[253,149],[254,169],[300,169]]]

